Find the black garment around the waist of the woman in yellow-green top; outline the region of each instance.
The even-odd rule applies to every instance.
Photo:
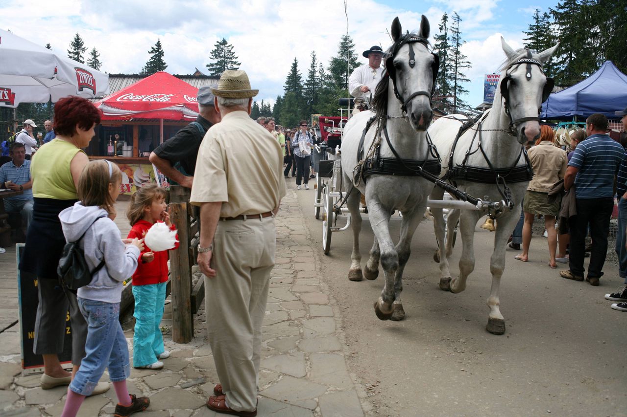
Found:
[[[26,232],[26,245],[21,255],[19,269],[43,279],[59,279],[59,264],[65,236],[61,229],[59,213],[74,205],[77,200],[33,198],[33,220]]]

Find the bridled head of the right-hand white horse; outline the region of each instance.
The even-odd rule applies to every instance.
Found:
[[[540,136],[538,115],[554,85],[553,79],[544,75],[542,65],[551,58],[559,44],[537,54],[529,49],[514,50],[502,36],[501,44],[507,60],[502,66],[497,91],[518,141],[529,142]]]

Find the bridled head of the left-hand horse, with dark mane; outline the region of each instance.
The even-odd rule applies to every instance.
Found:
[[[426,130],[433,119],[431,96],[440,67],[440,58],[428,48],[429,30],[424,15],[418,33],[403,34],[399,19],[394,18],[391,32],[394,43],[385,56],[386,75],[377,85],[372,101],[378,116],[405,113],[416,131]],[[389,100],[390,85],[397,100]]]

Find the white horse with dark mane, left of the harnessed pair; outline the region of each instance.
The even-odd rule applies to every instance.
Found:
[[[343,182],[354,237],[349,279],[362,280],[359,200],[364,194],[375,240],[363,275],[376,279],[381,262],[386,282],[374,308],[382,320],[404,317],[400,299],[403,269],[409,259],[411,238],[423,219],[433,188],[433,183],[416,176],[416,165],[429,160],[424,167],[429,166],[433,171],[435,166],[436,175],[440,172],[439,162],[434,160],[434,152],[429,152],[426,139],[426,129],[433,118],[431,93],[439,65],[438,56],[428,49],[429,21],[422,16],[417,34],[403,34],[396,18],[391,33],[394,44],[386,53],[386,75],[372,101],[376,113],[362,111],[353,116],[342,136]],[[376,119],[364,132],[372,116]],[[378,153],[375,151],[377,143]],[[360,149],[363,157],[358,157]],[[362,160],[378,163],[360,165],[361,172],[354,170]],[[382,173],[387,172],[382,165],[391,167],[394,175],[389,175],[393,172]],[[403,214],[401,236],[396,245],[389,232],[394,210]]]

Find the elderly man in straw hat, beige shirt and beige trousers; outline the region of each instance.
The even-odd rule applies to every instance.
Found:
[[[285,195],[283,153],[250,118],[259,90],[251,90],[244,71],[224,71],[211,90],[222,121],[204,136],[190,198],[201,206],[198,264],[220,382],[207,406],[255,416],[261,322],[277,245],[274,217]]]

